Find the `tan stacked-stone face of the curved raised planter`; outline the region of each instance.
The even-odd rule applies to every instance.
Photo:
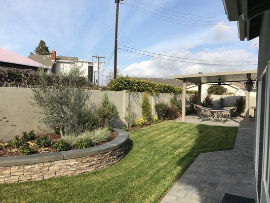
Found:
[[[128,149],[127,138],[128,138],[127,133],[126,136],[125,135],[123,136],[123,134],[122,135],[119,134],[119,136],[114,141],[111,141],[104,145],[96,146],[96,149],[94,150],[88,148],[83,150],[71,150],[62,153],[61,152],[50,153],[53,154],[53,157],[49,159],[59,159],[58,155],[62,154],[61,156],[64,157],[63,160],[55,160],[33,164],[11,165],[14,163],[16,164],[16,160],[8,162],[7,160],[5,160],[6,157],[1,157],[0,184],[43,180],[60,176],[70,176],[86,172],[92,172],[95,170],[99,170],[101,168],[109,167],[110,165],[117,163],[125,156]],[[114,149],[110,150],[111,148]],[[87,151],[89,151],[90,154],[95,153],[94,151],[96,151],[96,153],[99,151],[103,153],[84,156],[86,155]],[[37,156],[38,154],[34,155]],[[72,157],[72,156],[83,156],[83,157],[65,159],[65,157]],[[25,157],[25,156],[17,156],[17,157]],[[2,158],[4,158],[4,161],[1,164]],[[36,157],[34,157],[34,159],[36,159]],[[44,159],[44,156],[43,157],[41,156],[41,159]],[[36,160],[38,161],[38,159]],[[18,163],[21,163],[21,161],[19,161]],[[1,165],[3,164],[4,165],[8,164],[10,166],[1,167]]]

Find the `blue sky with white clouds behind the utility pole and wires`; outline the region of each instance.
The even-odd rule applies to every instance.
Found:
[[[176,22],[182,20],[218,26],[200,27],[171,23],[121,4],[119,45],[178,57],[217,61],[245,61],[256,53],[258,45],[255,44],[258,44],[258,39],[250,42],[241,42],[238,39],[236,23],[229,23],[226,19],[221,0],[143,1],[176,12],[223,18],[199,18],[151,6],[163,11],[160,12],[146,7],[147,4],[141,0],[126,0],[126,4],[152,12],[151,15],[163,15],[166,19],[177,19]],[[106,57],[106,61],[113,50],[114,0],[5,0],[0,1],[0,15],[0,47],[24,56],[33,52],[40,40],[44,40],[50,50],[55,49],[58,55],[78,56],[86,60],[91,60],[92,55],[102,55]],[[233,26],[223,26],[224,24]],[[257,54],[249,60],[256,61]],[[108,73],[112,65],[113,59],[104,73]],[[123,50],[119,50],[118,65],[119,72],[124,75],[161,78],[199,71],[228,71],[237,67],[173,62],[134,55]],[[237,70],[255,68],[256,66],[240,66]]]

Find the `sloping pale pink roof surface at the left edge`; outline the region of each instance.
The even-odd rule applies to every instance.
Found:
[[[34,67],[47,67],[41,63],[38,63],[30,58],[17,54],[15,52],[3,49],[0,47],[0,61],[7,63],[15,63],[21,65],[28,65]],[[48,67],[47,67],[48,68]]]

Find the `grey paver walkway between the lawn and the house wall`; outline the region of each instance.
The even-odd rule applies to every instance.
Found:
[[[221,202],[225,193],[256,199],[253,134],[239,128],[233,150],[200,154],[161,202]]]

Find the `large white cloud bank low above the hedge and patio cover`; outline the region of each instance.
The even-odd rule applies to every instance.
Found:
[[[214,51],[204,50],[192,54],[191,52],[184,50],[174,50],[168,53],[168,55],[175,55],[186,58],[197,58],[201,60],[213,60],[213,61],[245,61],[252,53],[247,52],[244,49],[235,50],[222,50],[215,49]],[[182,59],[176,59],[182,60]],[[190,60],[189,60],[190,61]],[[210,63],[205,61],[195,61],[199,63]],[[222,62],[213,62],[216,64],[224,64]],[[227,63],[234,64],[234,63]],[[237,63],[241,64],[241,63]],[[191,64],[183,62],[168,61],[165,59],[152,59],[141,61],[138,63],[132,63],[127,66],[121,74],[129,75],[133,77],[152,77],[152,78],[169,78],[172,75],[180,74],[195,74],[198,72],[211,73],[211,72],[225,72],[233,71],[238,66],[221,66],[221,65],[203,65],[203,64]],[[255,66],[240,66],[238,70],[256,69]]]

